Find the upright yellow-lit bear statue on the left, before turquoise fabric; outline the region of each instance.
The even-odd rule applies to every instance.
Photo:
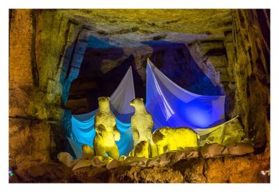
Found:
[[[98,112],[95,116],[96,136],[93,146],[96,156],[119,158],[119,151],[115,141],[120,140],[120,133],[116,128],[116,119],[110,112],[110,98],[98,98]]]

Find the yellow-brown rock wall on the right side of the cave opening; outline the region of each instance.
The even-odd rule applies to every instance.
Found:
[[[202,71],[227,95],[226,117],[239,115],[259,150],[269,145],[269,10],[232,10],[232,30],[188,44]],[[261,149],[260,149],[261,148]]]

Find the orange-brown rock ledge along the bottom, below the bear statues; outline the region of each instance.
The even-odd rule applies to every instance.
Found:
[[[17,168],[10,183],[269,183],[269,153],[218,158],[190,158],[171,167],[80,168],[36,163]]]

